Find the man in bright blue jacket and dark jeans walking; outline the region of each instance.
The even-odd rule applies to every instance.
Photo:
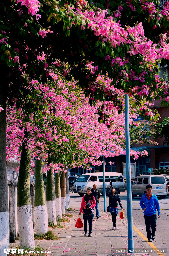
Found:
[[[141,197],[140,200],[140,207],[144,211],[144,221],[146,224],[146,232],[147,232],[147,238],[149,242],[152,242],[155,240],[155,230],[156,230],[156,209],[158,218],[160,218],[160,206],[158,199],[155,195],[153,195],[152,192],[152,186],[147,185],[146,186],[147,194],[144,194]],[[150,230],[151,226],[151,230]]]

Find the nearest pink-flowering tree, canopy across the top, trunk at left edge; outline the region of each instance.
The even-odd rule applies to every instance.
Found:
[[[156,0],[150,3],[139,0],[137,3],[49,1],[44,5],[38,1],[8,3],[3,0],[0,7],[3,250],[8,247],[9,233],[5,165],[7,98],[10,102],[17,99],[17,107],[24,106],[25,112],[29,112],[32,107],[24,98],[34,85],[29,84],[24,74],[44,84],[47,79],[53,79],[53,70],[67,80],[74,78],[89,97],[90,104],[96,105],[97,100],[102,102],[98,112],[100,122],[109,125],[108,111],[112,103],[119,114],[124,108],[124,101],[118,98],[115,89],[134,95],[133,106],[142,111],[147,120],[157,120],[158,113],[152,113],[144,103],[154,97],[168,105],[168,84],[158,78],[154,61],[161,59],[163,66],[169,59],[169,8],[166,3],[161,9]],[[99,81],[99,74],[110,78],[111,83]]]

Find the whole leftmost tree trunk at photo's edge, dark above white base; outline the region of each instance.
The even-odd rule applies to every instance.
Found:
[[[5,76],[2,74],[1,78]],[[8,183],[6,175],[6,93],[5,84],[1,80],[0,106],[4,109],[0,112],[0,252],[9,248],[9,208],[8,208]]]

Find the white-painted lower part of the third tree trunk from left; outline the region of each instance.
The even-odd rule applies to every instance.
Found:
[[[40,205],[34,207],[34,222],[37,235],[47,233],[47,207]]]

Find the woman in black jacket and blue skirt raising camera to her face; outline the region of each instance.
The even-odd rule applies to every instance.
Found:
[[[112,190],[111,193],[108,193],[110,190]],[[116,217],[118,214],[118,203],[120,205],[120,208],[123,210],[122,203],[120,201],[120,197],[118,194],[116,194],[116,189],[114,187],[109,187],[106,190],[106,195],[109,197],[109,210],[112,215],[112,221],[113,221],[113,230],[119,230],[119,228],[116,227]],[[118,202],[118,203],[117,203]]]

